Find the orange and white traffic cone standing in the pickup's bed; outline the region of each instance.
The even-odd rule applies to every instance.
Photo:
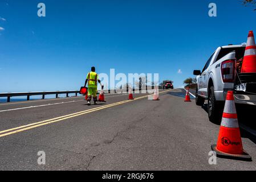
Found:
[[[256,73],[256,46],[253,31],[248,35],[241,73]]]

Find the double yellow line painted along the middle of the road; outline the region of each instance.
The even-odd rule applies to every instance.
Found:
[[[168,92],[168,90],[164,91],[164,92]],[[160,92],[160,93],[164,93],[164,92]],[[95,111],[98,111],[98,110],[106,109],[108,107],[113,107],[113,106],[116,106],[116,105],[125,104],[127,102],[140,100],[140,99],[146,98],[148,96],[149,95],[142,96],[142,97],[137,97],[137,98],[135,98],[135,100],[120,101],[120,102],[116,102],[116,103],[113,103],[113,104],[109,104],[109,105],[105,105],[105,106],[96,107],[96,108],[93,108],[93,109],[80,111],[78,113],[63,115],[63,116],[60,116],[60,117],[57,117],[57,118],[47,119],[47,120],[44,120],[44,121],[31,123],[29,125],[23,125],[23,126],[15,127],[13,129],[3,130],[3,131],[0,131],[0,138],[5,137],[7,135],[11,135],[11,134],[16,134],[16,133],[19,133],[19,132],[22,132],[22,131],[34,129],[35,127],[44,126],[44,125],[48,125],[48,124],[59,122],[59,121],[64,121],[64,120],[69,119],[69,118],[78,117],[79,115],[84,115],[84,114],[92,113],[92,112],[95,112]]]

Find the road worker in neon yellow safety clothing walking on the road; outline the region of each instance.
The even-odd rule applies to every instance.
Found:
[[[87,105],[91,105],[92,97],[94,98],[94,104],[97,104],[97,81],[99,82],[101,88],[103,88],[103,86],[100,83],[99,76],[95,72],[95,67],[92,67],[91,72],[87,74],[86,82],[84,84],[84,86],[86,86],[88,82]]]

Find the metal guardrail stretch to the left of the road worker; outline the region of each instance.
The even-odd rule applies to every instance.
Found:
[[[11,97],[15,96],[27,96],[27,101],[30,100],[30,96],[40,96],[42,95],[42,99],[44,99],[44,96],[46,95],[56,95],[56,98],[58,98],[59,94],[66,94],[68,97],[68,94],[75,93],[75,96],[78,96],[79,91],[78,90],[70,90],[70,91],[47,91],[47,92],[10,92],[10,93],[0,93],[0,97],[7,97],[7,102],[10,102]]]

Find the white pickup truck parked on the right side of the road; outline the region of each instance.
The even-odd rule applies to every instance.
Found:
[[[222,46],[210,56],[205,67],[194,70],[197,75],[196,104],[208,100],[208,115],[212,122],[220,122],[228,90],[234,91],[237,104],[254,105],[256,111],[256,73],[241,72],[246,45]]]

